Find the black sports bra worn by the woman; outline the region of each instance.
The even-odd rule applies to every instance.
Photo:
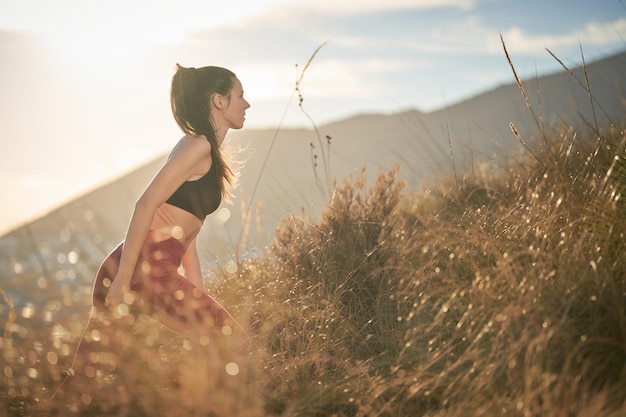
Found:
[[[220,192],[217,175],[213,164],[209,172],[197,180],[185,181],[166,203],[174,207],[183,209],[200,221],[213,213],[219,207],[222,201],[222,193]]]

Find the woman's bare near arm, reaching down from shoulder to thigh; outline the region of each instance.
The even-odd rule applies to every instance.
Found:
[[[178,143],[170,158],[143,192],[135,204],[124,239],[120,266],[109,287],[106,305],[122,303],[124,295],[130,291],[130,279],[157,209],[183,182],[206,172],[207,160],[210,169],[211,145],[209,142],[203,137],[185,137]]]

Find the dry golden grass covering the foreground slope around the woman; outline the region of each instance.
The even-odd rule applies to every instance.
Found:
[[[624,416],[625,148],[622,128],[570,129],[501,172],[420,193],[397,169],[369,187],[348,180],[319,220],[285,218],[265,256],[220,271],[210,293],[253,337],[235,372],[140,319],[124,367],[76,409]],[[0,410],[45,415],[86,316],[41,328],[17,316],[1,342]]]

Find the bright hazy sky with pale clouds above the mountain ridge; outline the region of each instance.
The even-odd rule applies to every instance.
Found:
[[[233,70],[246,128],[431,112],[626,49],[626,0],[0,0],[0,233],[168,152],[174,66]],[[323,45],[323,46],[322,46]]]

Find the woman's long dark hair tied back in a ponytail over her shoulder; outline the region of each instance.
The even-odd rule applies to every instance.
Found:
[[[228,197],[228,186],[232,185],[234,174],[217,143],[210,103],[214,94],[227,97],[235,78],[235,74],[226,68],[186,68],[176,64],[170,90],[170,105],[176,124],[188,135],[204,135],[211,144],[213,167],[219,178],[220,192],[225,197]]]

